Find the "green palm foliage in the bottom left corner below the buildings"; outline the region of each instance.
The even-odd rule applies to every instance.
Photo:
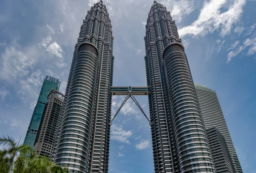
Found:
[[[49,158],[38,156],[34,150],[19,144],[10,136],[0,136],[0,173],[69,173],[67,167],[62,168]]]

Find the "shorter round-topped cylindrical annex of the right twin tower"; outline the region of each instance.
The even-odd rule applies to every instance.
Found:
[[[163,59],[180,171],[215,172],[195,86],[182,44],[172,40],[163,52]]]

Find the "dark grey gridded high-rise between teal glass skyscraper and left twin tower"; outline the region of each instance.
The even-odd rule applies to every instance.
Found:
[[[61,117],[61,109],[64,95],[55,89],[52,89],[47,97],[47,104],[44,107],[44,113],[38,128],[35,139],[34,150],[40,156],[51,157],[52,149],[55,144],[55,135],[57,134],[57,125]]]

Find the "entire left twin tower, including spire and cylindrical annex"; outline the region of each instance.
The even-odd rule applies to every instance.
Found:
[[[111,20],[100,0],[81,25],[53,153],[71,172],[108,172],[113,60]]]

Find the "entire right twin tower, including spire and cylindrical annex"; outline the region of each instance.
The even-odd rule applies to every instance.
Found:
[[[207,134],[175,20],[162,4],[154,1],[145,29],[155,173],[214,173]]]

